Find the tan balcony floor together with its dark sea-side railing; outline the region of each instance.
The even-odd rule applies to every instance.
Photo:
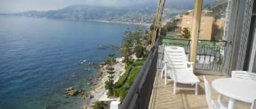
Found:
[[[208,108],[205,96],[205,87],[203,75],[206,75],[207,79],[211,83],[213,80],[218,78],[224,78],[223,74],[219,74],[217,69],[204,69],[205,67],[197,67],[195,74],[197,74],[200,79],[198,95],[194,94],[194,91],[178,91],[176,94],[173,94],[173,82],[168,81],[168,84],[164,85],[164,79],[160,78],[160,70],[162,69],[162,52],[161,47],[163,44],[160,44],[162,40],[159,39],[156,41],[156,44],[150,54],[148,55],[144,66],[140,70],[140,74],[136,78],[132,87],[130,88],[126,98],[121,104],[121,109],[161,109],[161,108],[186,108],[186,109],[200,109]],[[223,43],[223,42],[221,42]],[[166,46],[166,45],[165,45]],[[171,45],[174,46],[174,45]],[[189,54],[189,47],[176,44],[176,46],[182,46],[186,49],[186,52]],[[200,47],[200,46],[199,46]],[[215,47],[213,47],[215,48]],[[217,47],[218,48],[218,47]],[[216,52],[216,49],[212,49]],[[200,55],[200,53],[198,53]],[[188,55],[189,56],[189,55]],[[201,56],[201,55],[200,55]],[[204,58],[203,58],[204,59]],[[196,62],[198,65],[198,62]],[[209,67],[210,68],[210,67]],[[204,72],[202,74],[201,72]],[[183,86],[182,84],[177,84],[178,86]],[[191,85],[189,85],[191,86]],[[186,87],[189,87],[186,86]],[[217,99],[217,92],[212,89],[212,98]],[[223,97],[224,101],[228,101],[227,97]],[[251,104],[245,102],[236,101],[236,108],[250,108]]]

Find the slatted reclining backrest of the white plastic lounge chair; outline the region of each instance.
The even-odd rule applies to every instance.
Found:
[[[164,50],[164,61],[168,68],[187,69],[187,56],[183,47],[168,46]]]

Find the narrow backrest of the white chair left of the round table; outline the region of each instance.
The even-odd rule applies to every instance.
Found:
[[[213,109],[212,103],[211,103],[211,101],[212,101],[211,87],[210,87],[209,82],[205,78],[205,75],[204,75],[204,84],[205,84],[205,96],[206,96],[206,101],[207,101],[207,104],[208,104],[208,108]]]

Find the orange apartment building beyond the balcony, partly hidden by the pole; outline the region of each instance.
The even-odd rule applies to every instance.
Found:
[[[184,28],[188,28],[190,31],[192,30],[192,21],[193,21],[193,10],[189,10],[185,14],[176,17],[177,27],[181,30]],[[203,10],[201,16],[201,25],[200,25],[200,40],[211,40],[212,35],[212,24],[215,22],[215,18],[213,17],[213,11]]]

